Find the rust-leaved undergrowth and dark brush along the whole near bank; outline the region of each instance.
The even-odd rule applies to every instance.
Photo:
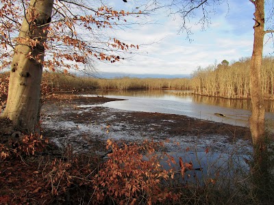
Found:
[[[162,146],[155,141],[109,139],[108,154],[99,156],[94,151],[76,153],[71,146],[60,150],[40,135],[1,143],[0,204],[268,204],[273,200],[271,190],[264,200],[256,195],[251,172],[241,167],[227,170],[233,172],[229,175],[216,171],[199,182],[188,180],[195,174],[192,163],[160,152]]]

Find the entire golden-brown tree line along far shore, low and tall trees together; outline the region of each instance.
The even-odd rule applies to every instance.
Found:
[[[250,98],[250,58],[241,58],[229,65],[227,60],[206,68],[198,67],[190,78],[157,79],[130,78],[97,79],[75,77],[71,74],[45,72],[42,89],[49,91],[88,90],[189,90],[190,93],[221,98]],[[274,99],[274,57],[262,61],[262,92],[267,99]],[[3,78],[3,74],[1,74]],[[178,92],[179,94],[179,92]]]

